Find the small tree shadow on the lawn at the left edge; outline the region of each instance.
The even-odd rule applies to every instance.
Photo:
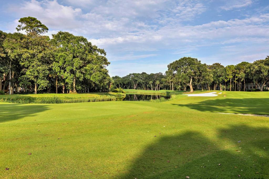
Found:
[[[48,105],[0,104],[0,123],[35,116],[48,109]]]

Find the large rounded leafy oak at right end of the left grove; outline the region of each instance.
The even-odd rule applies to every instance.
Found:
[[[69,32],[52,35],[52,44],[56,47],[53,69],[62,75],[70,92],[76,92],[76,81],[91,80],[101,84],[108,76],[105,68],[110,63],[104,49],[99,49],[82,36]]]

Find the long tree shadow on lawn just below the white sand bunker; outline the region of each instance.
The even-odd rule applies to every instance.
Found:
[[[243,113],[243,114],[269,114],[269,98],[222,98],[210,99],[191,104],[173,104],[185,106],[198,111]]]

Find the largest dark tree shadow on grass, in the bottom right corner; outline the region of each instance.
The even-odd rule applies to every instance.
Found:
[[[269,177],[268,128],[231,126],[217,134],[214,140],[193,131],[167,137],[160,134],[129,171],[115,178]]]

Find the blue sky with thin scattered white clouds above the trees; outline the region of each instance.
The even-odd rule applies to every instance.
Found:
[[[107,52],[111,76],[165,72],[184,56],[223,65],[269,55],[268,0],[1,0],[0,30],[21,17],[69,31]]]

